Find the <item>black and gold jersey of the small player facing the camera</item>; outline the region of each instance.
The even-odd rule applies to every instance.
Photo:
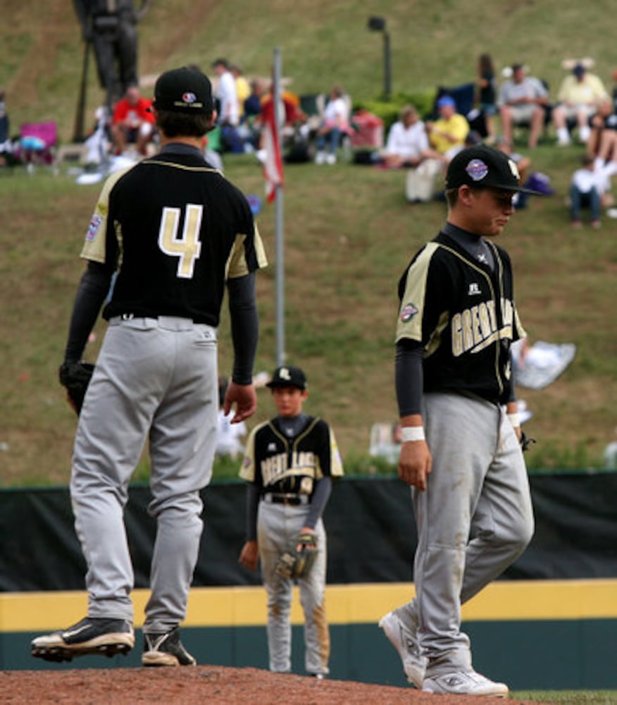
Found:
[[[340,477],[343,466],[330,426],[318,417],[297,436],[287,438],[278,419],[255,427],[244,450],[240,477],[254,482],[261,493],[311,495],[315,480]]]

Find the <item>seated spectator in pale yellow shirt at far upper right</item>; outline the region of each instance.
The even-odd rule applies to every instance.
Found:
[[[590,118],[597,113],[599,104],[608,97],[602,80],[589,73],[582,63],[577,63],[572,73],[561,82],[558,102],[553,109],[557,144],[563,147],[571,142],[568,120],[576,121],[578,139],[587,144],[591,136]]]

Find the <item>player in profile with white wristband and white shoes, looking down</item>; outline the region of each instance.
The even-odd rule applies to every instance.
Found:
[[[514,212],[516,164],[469,147],[450,162],[447,223],[399,283],[396,388],[399,477],[418,528],[416,598],[380,620],[408,680],[427,692],[506,697],[476,673],[461,604],[532,537],[530,491],[511,378],[525,335],[507,253],[485,238]]]

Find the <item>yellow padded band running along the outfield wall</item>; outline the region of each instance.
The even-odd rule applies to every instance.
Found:
[[[329,585],[331,625],[376,623],[411,599],[411,583]],[[147,589],[135,590],[135,626],[142,626]],[[38,632],[74,624],[87,613],[82,591],[0,593],[0,632]],[[463,606],[463,621],[589,620],[617,618],[617,580],[513,580],[490,584]],[[303,623],[294,588],[292,623]],[[189,596],[187,627],[266,624],[263,587],[196,587]]]

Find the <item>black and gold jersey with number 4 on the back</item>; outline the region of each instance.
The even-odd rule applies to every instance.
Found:
[[[111,176],[101,192],[82,257],[119,267],[106,319],[217,326],[225,279],[266,265],[246,197],[197,149],[179,146]]]

